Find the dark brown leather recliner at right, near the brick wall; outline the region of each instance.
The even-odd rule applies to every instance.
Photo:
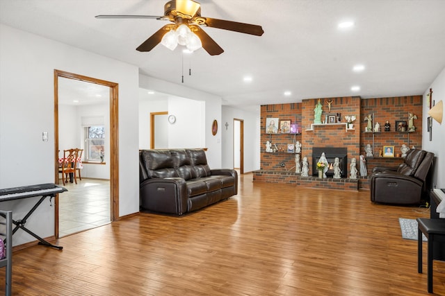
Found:
[[[396,168],[375,167],[371,175],[371,201],[387,204],[419,204],[428,199],[426,182],[434,154],[411,149]]]

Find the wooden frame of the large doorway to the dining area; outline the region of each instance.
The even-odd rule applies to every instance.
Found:
[[[58,159],[58,78],[70,78],[83,82],[110,87],[110,216],[111,221],[119,220],[119,125],[118,125],[118,83],[54,69],[54,159]],[[58,162],[54,162],[54,180],[58,184]],[[58,237],[58,196],[55,208],[55,234]]]

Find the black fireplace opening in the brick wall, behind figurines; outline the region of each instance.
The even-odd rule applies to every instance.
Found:
[[[317,162],[318,159],[321,157],[321,153],[325,153],[327,163],[328,163],[328,170],[326,172],[327,177],[333,177],[334,176],[334,161],[335,157],[339,157],[340,160],[340,175],[342,178],[346,178],[348,175],[348,148],[341,148],[341,147],[329,147],[329,148],[322,148],[322,147],[314,147],[312,148],[312,175],[317,176]]]

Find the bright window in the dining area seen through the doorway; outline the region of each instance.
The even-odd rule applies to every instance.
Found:
[[[105,127],[103,125],[87,126],[85,128],[85,160],[104,162]]]

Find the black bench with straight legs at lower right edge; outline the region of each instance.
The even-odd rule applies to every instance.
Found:
[[[428,293],[432,293],[432,260],[435,259],[434,245],[445,242],[445,219],[417,218],[417,271],[422,273],[422,234],[428,238]]]

